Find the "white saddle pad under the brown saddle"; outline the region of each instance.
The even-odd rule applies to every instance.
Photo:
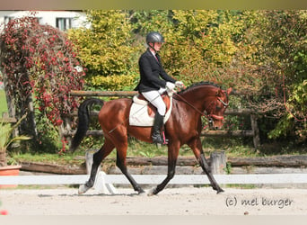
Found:
[[[171,116],[172,109],[172,97],[170,109],[165,113],[164,123],[169,120]],[[139,100],[134,97],[134,102],[131,105],[130,114],[129,114],[129,125],[130,126],[139,126],[139,127],[151,127],[153,126],[154,118],[148,114],[147,105],[148,102],[144,100]]]

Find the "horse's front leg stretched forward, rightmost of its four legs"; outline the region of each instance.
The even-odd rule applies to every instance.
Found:
[[[199,165],[202,167],[204,172],[206,173],[210,184],[212,188],[217,192],[217,193],[222,193],[224,190],[217,184],[215,181],[215,177],[212,175],[210,166],[208,165],[206,161],[206,157],[201,145],[201,141],[199,138],[193,139],[192,141],[189,142],[189,147],[192,148],[195,157],[197,157],[197,161],[199,162]]]

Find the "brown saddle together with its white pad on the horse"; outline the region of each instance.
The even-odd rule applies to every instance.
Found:
[[[172,108],[172,96],[165,93],[162,94],[163,102],[166,105],[166,114],[164,117],[164,123],[168,121],[171,115]],[[132,99],[132,105],[129,114],[130,126],[153,126],[154,115],[157,109],[152,103],[149,103],[143,94],[136,94]]]

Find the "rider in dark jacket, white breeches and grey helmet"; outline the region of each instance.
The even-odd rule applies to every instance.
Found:
[[[148,48],[138,60],[140,70],[140,82],[136,86],[145,99],[157,108],[153,121],[153,143],[163,143],[160,129],[166,112],[166,105],[161,94],[166,89],[173,90],[175,86],[182,86],[181,81],[176,81],[169,76],[162,67],[160,56],[157,52],[161,49],[164,39],[157,31],[149,32],[146,36]],[[160,78],[162,77],[162,79]]]

